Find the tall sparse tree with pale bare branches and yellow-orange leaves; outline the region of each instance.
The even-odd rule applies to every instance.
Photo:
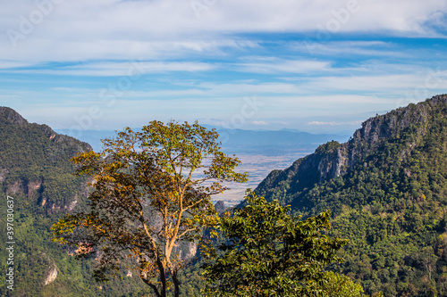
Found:
[[[132,258],[156,296],[166,296],[170,280],[179,296],[180,244],[215,225],[210,197],[227,189],[223,182],[247,180],[217,137],[197,122],[152,121],[141,132],[126,128],[103,141],[102,153],[80,153],[72,159],[78,174],[93,177],[89,211],[58,221],[54,241],[75,245],[80,257],[96,257],[97,280]]]

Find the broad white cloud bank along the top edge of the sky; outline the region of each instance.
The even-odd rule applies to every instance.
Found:
[[[429,37],[437,34],[432,25],[447,10],[446,0],[358,0],[352,8],[353,1],[217,0],[208,2],[199,18],[191,0],[78,0],[50,8],[32,0],[8,1],[0,12],[0,30],[7,33],[0,37],[0,56],[37,62],[179,58],[256,46],[244,38],[232,40],[240,33],[318,34],[328,28],[330,35],[368,31]]]

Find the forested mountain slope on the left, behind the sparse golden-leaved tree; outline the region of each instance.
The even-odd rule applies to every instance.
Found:
[[[87,206],[87,180],[72,174],[69,160],[90,149],[89,144],[59,135],[46,125],[30,124],[16,111],[0,107],[2,271],[9,268],[6,242],[11,240],[5,231],[8,195],[13,197],[15,242],[14,290],[7,289],[5,277],[1,277],[1,296],[121,296],[138,291],[139,277],[97,284],[91,279],[91,261],[75,260],[74,251],[51,243],[50,227],[55,221],[68,211]]]

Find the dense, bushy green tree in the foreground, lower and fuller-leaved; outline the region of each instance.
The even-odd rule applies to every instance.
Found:
[[[336,252],[347,243],[321,234],[330,228],[329,211],[301,220],[277,201],[251,192],[246,200],[247,206],[220,219],[227,241],[219,246],[223,254],[205,265],[207,296],[363,295],[349,277],[325,272],[342,260]]]

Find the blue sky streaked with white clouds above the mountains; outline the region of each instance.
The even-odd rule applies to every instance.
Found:
[[[0,106],[78,134],[150,120],[351,134],[447,93],[447,0],[0,7]]]

